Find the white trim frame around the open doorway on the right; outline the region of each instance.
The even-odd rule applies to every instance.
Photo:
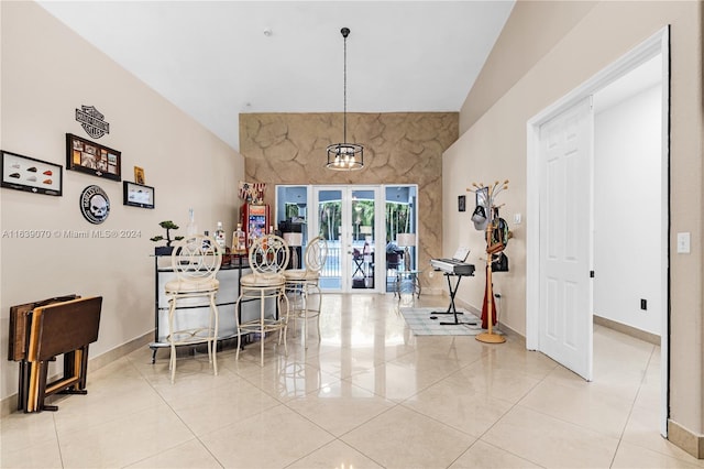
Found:
[[[658,296],[657,305],[653,305],[656,308],[662,312],[660,318],[660,351],[661,351],[661,418],[660,418],[660,433],[663,436],[667,436],[667,417],[668,417],[668,313],[669,313],[669,290],[668,290],[668,270],[669,270],[669,179],[668,179],[668,165],[669,165],[669,146],[668,146],[668,133],[669,133],[669,31],[668,29],[663,29],[658,32],[649,40],[644,42],[641,45],[626,54],[616,63],[612,64],[606,69],[598,73],[594,78],[587,80],[584,85],[580,86],[578,89],[571,91],[569,95],[560,99],[558,102],[543,110],[532,119],[528,121],[527,124],[527,133],[528,133],[528,159],[527,159],[527,181],[528,181],[528,217],[532,220],[536,220],[535,223],[528,228],[527,233],[527,291],[526,291],[526,346],[528,349],[543,351],[544,343],[542,340],[542,335],[546,331],[546,324],[541,321],[541,313],[540,307],[543,304],[543,298],[547,295],[547,291],[544,287],[546,280],[546,271],[544,271],[544,257],[546,251],[542,249],[542,240],[548,233],[551,232],[554,227],[550,225],[546,225],[541,227],[541,222],[538,220],[542,220],[541,217],[544,216],[546,207],[549,205],[547,201],[548,197],[561,197],[562,193],[551,193],[548,194],[542,184],[541,184],[541,173],[543,171],[543,162],[544,157],[541,156],[541,135],[540,129],[542,126],[548,123],[550,120],[569,112],[574,106],[585,98],[588,98],[595,95],[597,91],[606,88],[607,85],[615,83],[620,77],[624,77],[631,70],[640,67],[646,64],[653,57],[660,56],[660,75],[662,79],[662,90],[661,90],[661,110],[660,110],[660,133],[661,133],[661,144],[660,144],[660,154],[659,154],[659,187],[658,193],[660,194],[660,208],[659,214],[657,216],[657,226],[660,230],[659,238],[659,249],[658,255],[661,266],[658,271],[657,279],[657,288],[661,293]],[[593,124],[593,123],[592,123]],[[593,139],[593,135],[590,135]],[[593,141],[592,141],[593,145]],[[601,187],[603,181],[594,181],[594,187]],[[613,201],[613,200],[612,200]],[[590,197],[591,206],[594,206],[594,199]],[[609,204],[608,207],[595,207],[596,210],[618,210],[618,205]],[[585,215],[586,216],[586,215]],[[593,223],[593,217],[590,215],[590,222]],[[586,233],[583,233],[586,234]],[[588,233],[586,239],[592,238],[594,233]],[[614,233],[617,234],[617,233]],[[620,240],[627,242],[627,240]],[[591,241],[586,241],[590,243],[588,249],[591,250],[593,246]],[[619,242],[619,238],[614,236],[614,243]],[[588,275],[590,277],[594,275],[594,259],[590,259],[592,263],[591,269],[582,272],[582,275]],[[598,275],[598,272],[595,273]],[[590,298],[592,299],[592,298]],[[588,324],[586,326],[586,330],[584,328],[573,329],[576,334],[585,336],[591,336],[592,334],[592,308],[583,308],[575,309],[582,310],[582,315],[586,315],[586,317],[580,317],[573,319],[579,321],[580,324]],[[572,314],[572,310],[566,310]],[[579,342],[582,338],[576,340],[571,340],[571,343]],[[574,339],[574,338],[572,338]],[[590,339],[591,340],[591,339]],[[585,343],[578,350],[578,353],[581,353],[584,360],[588,360],[591,363],[592,360],[592,343],[591,341],[582,341]],[[552,357],[552,356],[551,356]],[[553,357],[554,358],[554,357]],[[561,359],[556,358],[557,361],[562,362]],[[568,368],[570,368],[568,366]],[[588,373],[591,373],[591,364]]]

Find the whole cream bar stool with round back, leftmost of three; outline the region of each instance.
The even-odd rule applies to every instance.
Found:
[[[172,383],[176,375],[176,346],[206,343],[208,361],[212,363],[213,374],[218,374],[216,350],[218,347],[218,307],[216,294],[220,282],[216,279],[220,270],[222,252],[215,239],[204,234],[191,234],[177,242],[172,252],[172,269],[176,279],[166,283],[164,290],[168,296],[168,336],[170,346],[168,368]],[[207,298],[208,317],[202,317],[202,301]],[[177,308],[178,302],[187,301],[184,308]]]

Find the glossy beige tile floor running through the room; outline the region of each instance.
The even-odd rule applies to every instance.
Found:
[[[658,433],[659,347],[596,327],[586,383],[515,338],[414,337],[391,294],[323,302],[320,342],[267,340],[264,368],[229,348],[170,384],[144,347],[91,371],[58,412],[2,419],[0,467],[704,467]]]

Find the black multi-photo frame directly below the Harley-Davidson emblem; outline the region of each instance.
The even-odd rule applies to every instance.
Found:
[[[66,170],[122,181],[122,153],[70,133],[66,134]]]

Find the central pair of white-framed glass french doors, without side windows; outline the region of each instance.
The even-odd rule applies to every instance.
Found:
[[[314,186],[309,233],[328,241],[324,291],[383,292],[384,198],[380,186]]]

